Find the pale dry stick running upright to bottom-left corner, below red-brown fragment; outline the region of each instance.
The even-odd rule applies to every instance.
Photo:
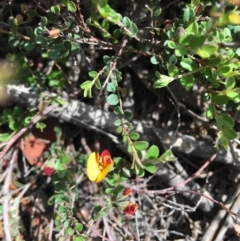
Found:
[[[18,150],[14,150],[11,161],[8,166],[7,175],[4,181],[4,185],[2,188],[3,193],[3,226],[4,226],[4,234],[5,234],[5,240],[6,241],[12,241],[11,237],[11,225],[9,223],[9,200],[10,200],[10,194],[9,194],[9,185],[11,183],[11,177],[12,177],[12,169],[13,164],[17,160],[18,156]]]

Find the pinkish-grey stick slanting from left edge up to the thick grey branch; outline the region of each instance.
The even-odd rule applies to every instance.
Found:
[[[0,160],[4,157],[4,155],[8,152],[8,150],[11,148],[11,146],[28,130],[30,130],[38,121],[40,121],[43,116],[47,115],[50,111],[52,111],[54,108],[56,108],[58,104],[53,104],[48,107],[44,111],[42,111],[41,114],[37,114],[32,118],[32,121],[22,130],[20,130],[16,135],[14,135],[11,140],[8,142],[8,144],[4,147],[2,152],[0,152]]]

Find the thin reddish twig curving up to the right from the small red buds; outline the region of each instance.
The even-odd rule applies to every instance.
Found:
[[[178,185],[174,186],[174,187],[169,187],[169,188],[165,188],[162,190],[157,190],[157,191],[151,191],[151,194],[164,194],[173,190],[177,190],[177,188],[184,186],[185,184],[187,184],[190,181],[193,181],[194,178],[196,178],[216,157],[217,153],[213,154],[211,156],[211,158],[206,161],[194,174],[192,174],[189,178],[187,178],[186,180],[184,180],[183,182],[179,183]]]

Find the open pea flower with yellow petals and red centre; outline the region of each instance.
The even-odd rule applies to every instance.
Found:
[[[104,150],[101,155],[93,152],[87,160],[87,176],[90,181],[99,183],[108,174],[114,162],[108,150]]]

